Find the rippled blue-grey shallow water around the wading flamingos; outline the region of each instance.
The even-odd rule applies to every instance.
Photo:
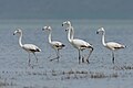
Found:
[[[64,20],[1,20],[0,21],[0,86],[6,88],[131,88],[133,84],[133,21],[132,20],[72,20],[75,37],[93,44],[90,64],[78,64],[78,51],[66,40]],[[48,33],[41,29],[51,25],[52,38],[65,44],[61,58],[50,62],[55,52],[48,43]],[[101,35],[95,32],[103,26],[105,40],[126,45],[115,52],[115,64],[111,51],[103,47]],[[31,55],[32,66],[28,66],[28,53],[19,47],[18,35],[13,31],[22,28],[22,43],[38,45],[39,63]],[[86,55],[89,52],[85,51]],[[80,84],[80,85],[79,85]],[[96,85],[95,85],[96,84]]]

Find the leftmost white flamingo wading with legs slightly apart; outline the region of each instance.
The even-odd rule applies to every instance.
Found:
[[[38,62],[38,57],[35,55],[35,52],[41,52],[41,50],[38,46],[33,45],[33,44],[22,44],[22,42],[21,42],[21,40],[22,40],[22,30],[21,29],[16,30],[13,35],[16,35],[16,34],[19,34],[19,45],[20,45],[20,47],[29,53],[29,59],[28,59],[29,65],[30,65],[30,62],[31,62],[30,53],[32,53],[34,55],[34,57],[35,57],[35,59]]]

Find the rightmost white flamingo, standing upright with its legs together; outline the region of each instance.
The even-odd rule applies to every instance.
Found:
[[[102,44],[103,44],[103,46],[112,51],[112,63],[114,64],[114,51],[117,51],[120,48],[124,48],[126,46],[122,45],[120,43],[115,43],[115,42],[105,43],[105,30],[103,28],[100,28],[96,31],[96,34],[99,34],[100,32],[102,33]]]

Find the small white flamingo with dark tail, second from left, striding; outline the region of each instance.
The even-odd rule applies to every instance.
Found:
[[[55,50],[55,53],[57,53],[57,57],[53,59],[58,59],[59,62],[59,58],[60,58],[59,51],[62,50],[65,45],[59,41],[52,41],[51,38],[52,28],[51,26],[43,26],[42,31],[44,30],[49,31],[49,44],[52,46],[53,50]],[[53,61],[53,59],[50,59],[50,61]]]

